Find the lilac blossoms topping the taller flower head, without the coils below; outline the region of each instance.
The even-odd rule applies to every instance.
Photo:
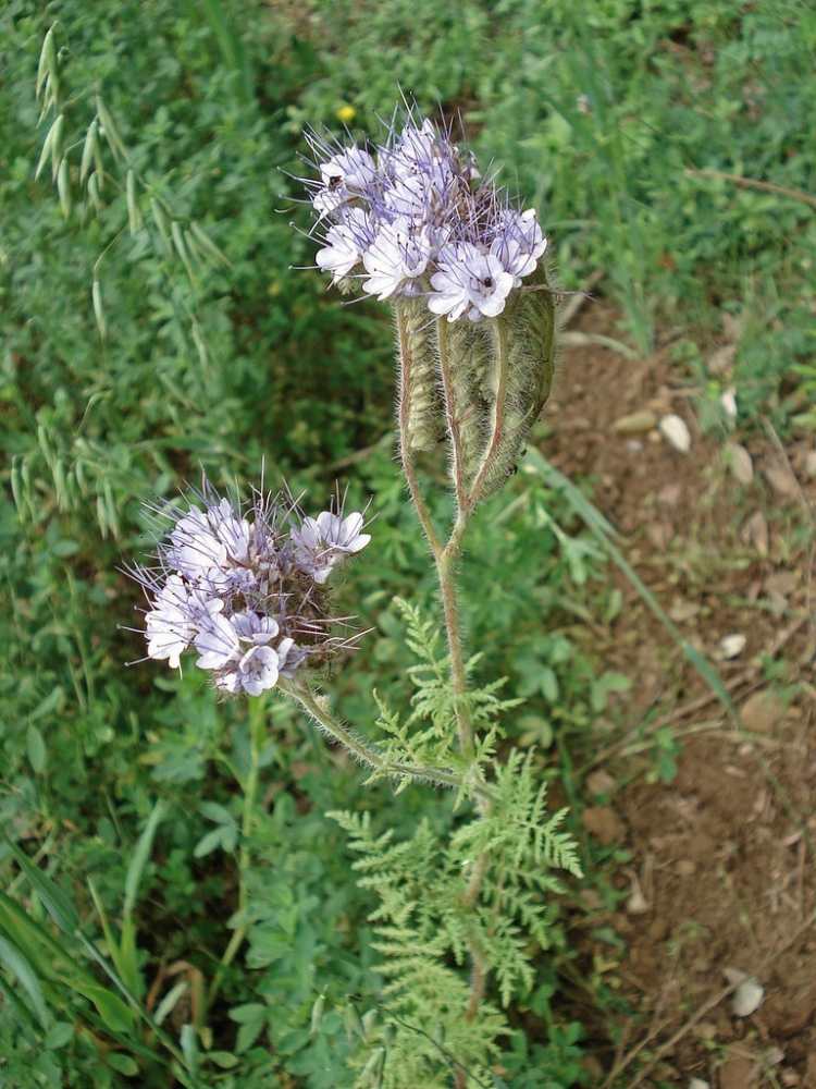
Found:
[[[320,179],[305,180],[332,282],[359,278],[380,299],[423,296],[448,321],[496,317],[547,242],[535,211],[511,207],[448,132],[409,117],[376,147],[310,136]]]

